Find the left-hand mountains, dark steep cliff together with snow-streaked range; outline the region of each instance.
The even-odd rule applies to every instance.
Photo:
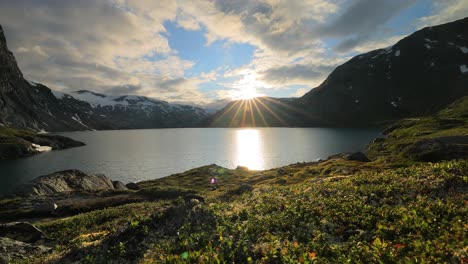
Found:
[[[38,131],[191,127],[207,117],[201,108],[143,96],[63,94],[27,81],[0,26],[0,126]]]

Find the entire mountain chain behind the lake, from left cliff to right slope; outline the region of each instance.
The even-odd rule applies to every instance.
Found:
[[[428,27],[338,66],[301,98],[205,110],[143,96],[54,92],[23,78],[0,27],[0,126],[45,131],[250,126],[370,126],[438,111],[468,95],[468,18]]]

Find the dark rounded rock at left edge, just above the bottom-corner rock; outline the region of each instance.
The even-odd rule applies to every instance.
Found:
[[[1,224],[0,237],[8,237],[27,243],[35,243],[45,238],[41,230],[26,222]]]

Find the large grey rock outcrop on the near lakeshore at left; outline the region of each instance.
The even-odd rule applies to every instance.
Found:
[[[49,195],[76,191],[113,190],[114,185],[105,175],[87,174],[79,170],[59,171],[41,176],[20,186],[16,194],[20,196]]]

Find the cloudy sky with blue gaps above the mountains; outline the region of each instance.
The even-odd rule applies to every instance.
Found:
[[[0,0],[27,79],[215,108],[301,96],[352,56],[466,14],[465,0]]]

